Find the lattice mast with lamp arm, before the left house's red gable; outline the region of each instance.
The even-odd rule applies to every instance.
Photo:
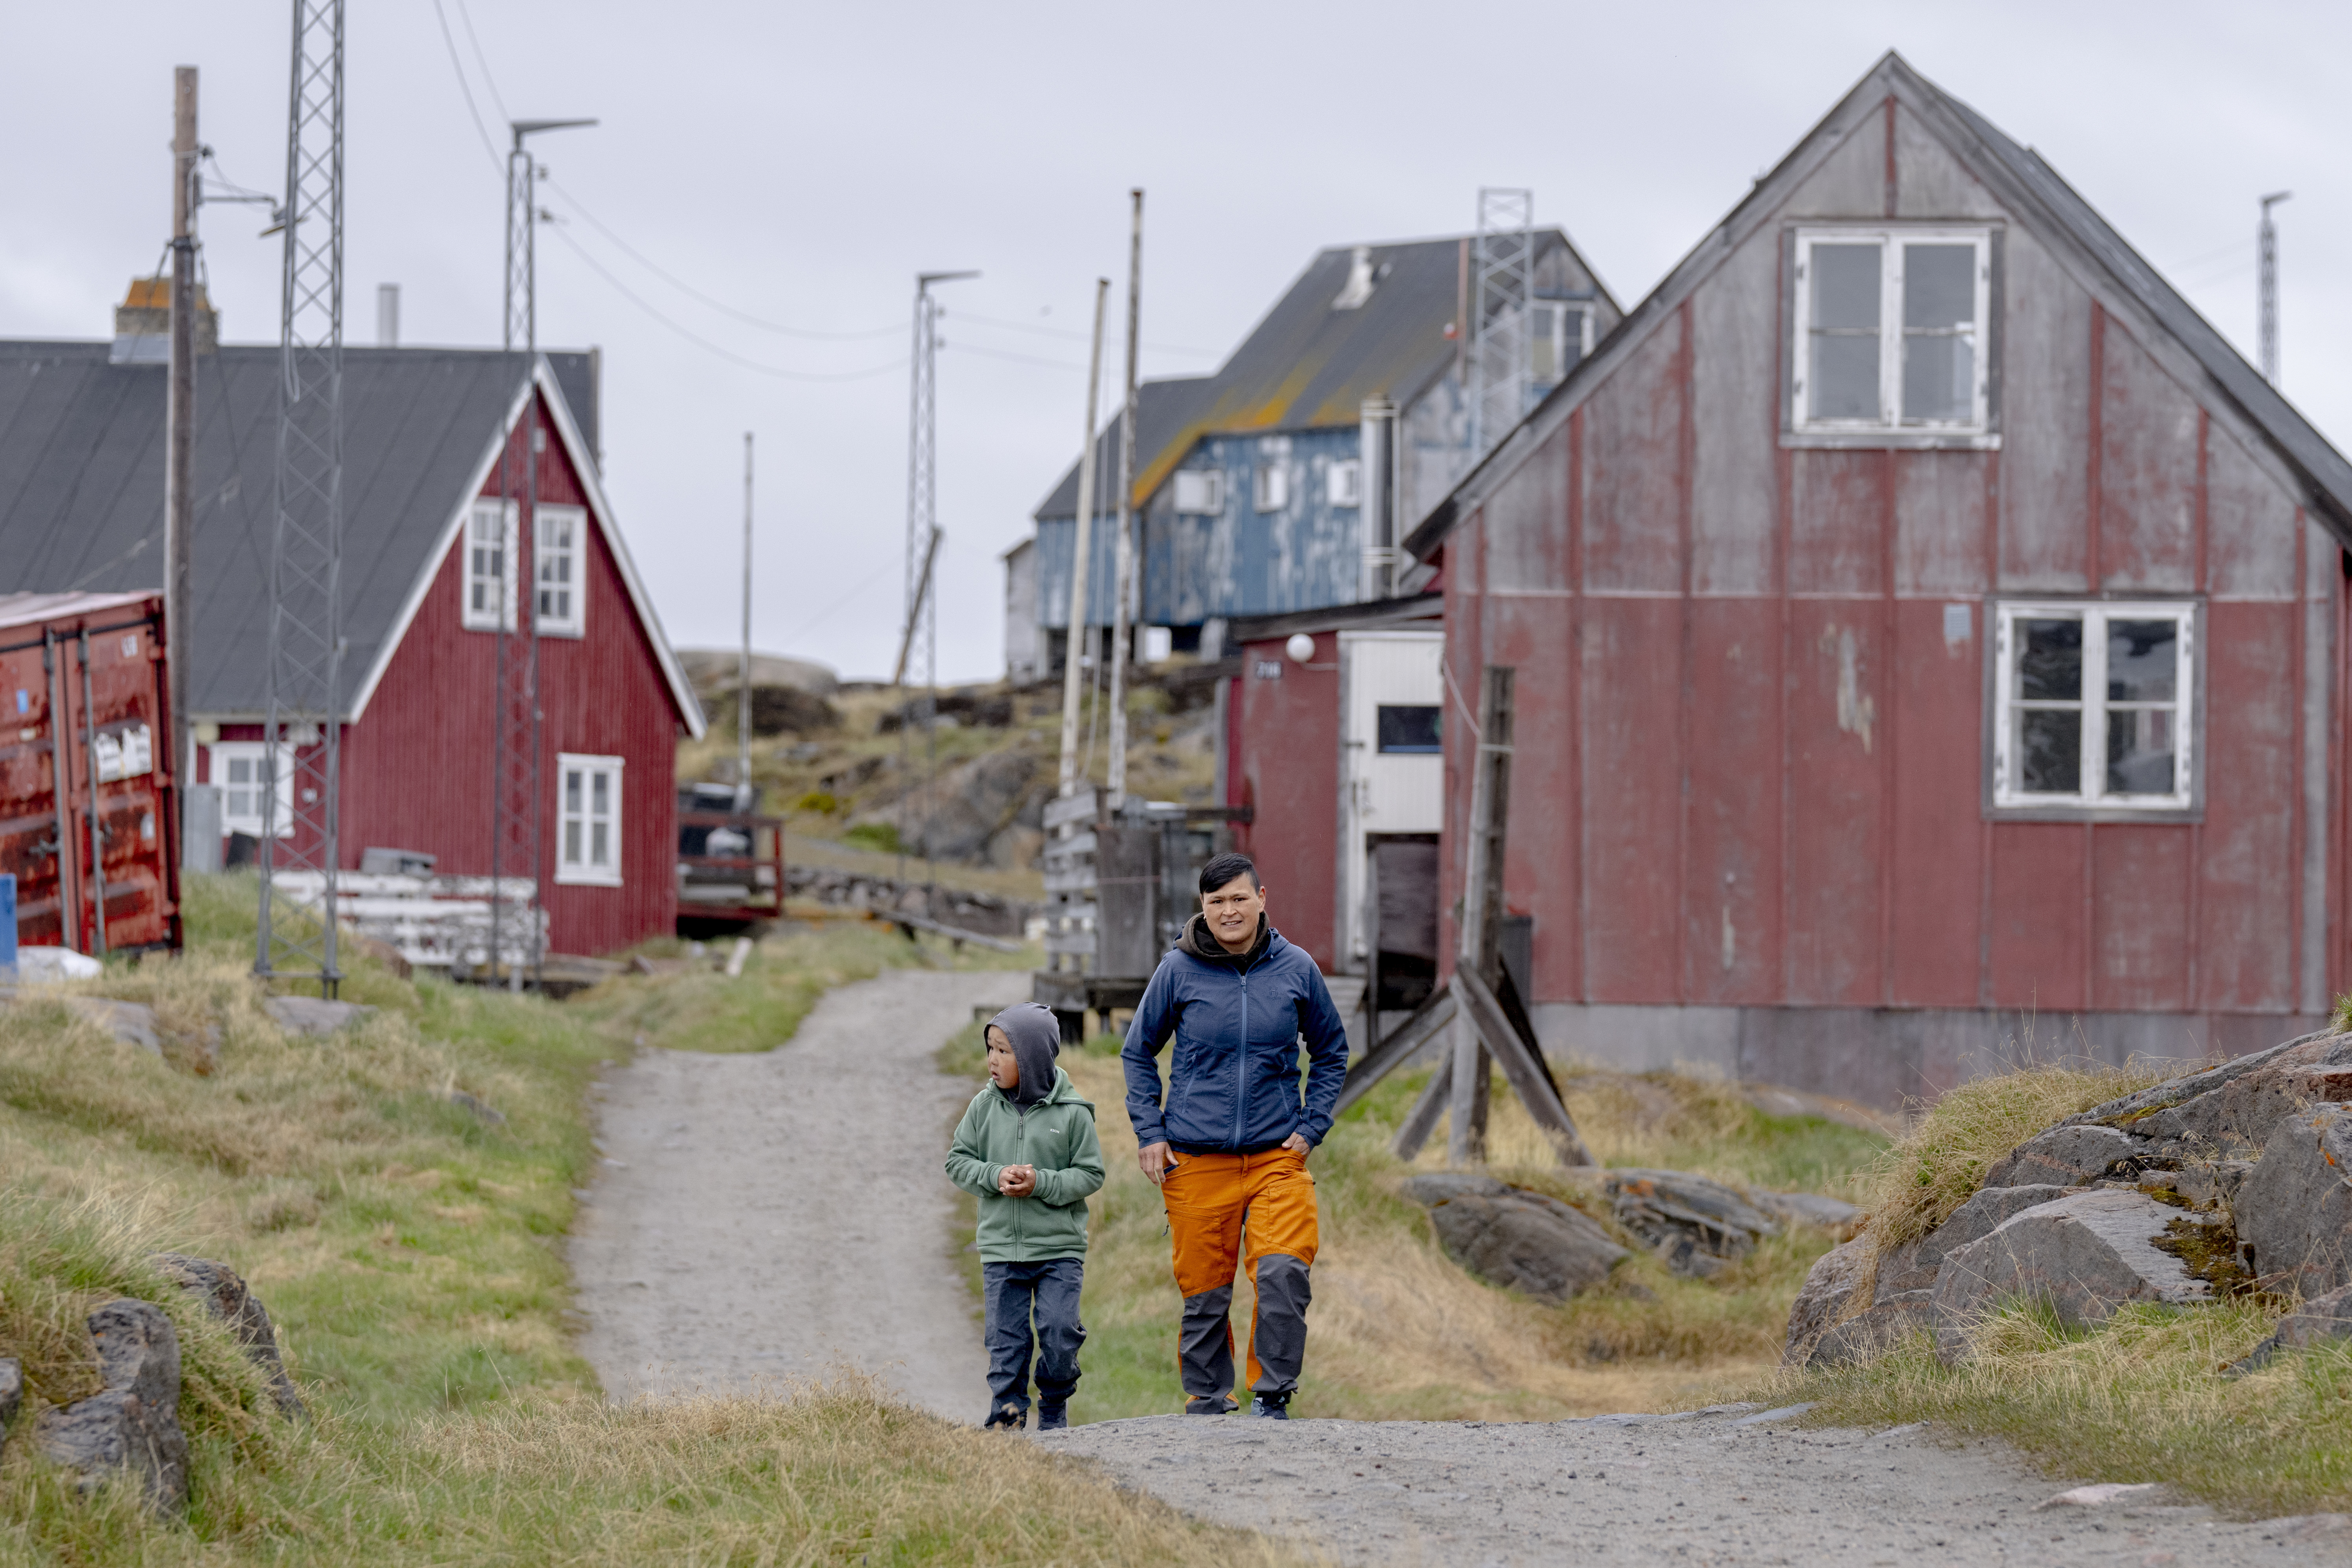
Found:
[[[539,980],[541,922],[546,905],[539,882],[539,571],[532,550],[539,520],[539,461],[546,425],[539,418],[539,160],[524,139],[595,120],[510,120],[515,136],[506,153],[506,322],[503,348],[513,362],[517,397],[515,428],[499,456],[499,498],[506,520],[496,555],[503,602],[499,649],[492,658],[489,748],[489,973],[506,961],[506,983],[522,990],[529,969]],[[529,886],[522,931],[506,931],[508,882]]]

